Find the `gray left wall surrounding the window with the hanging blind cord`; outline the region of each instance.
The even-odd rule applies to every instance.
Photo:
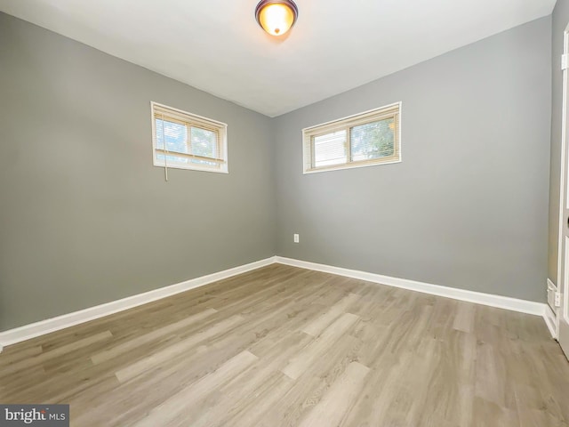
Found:
[[[271,122],[0,14],[0,331],[275,254]],[[150,101],[228,124],[229,174],[152,165]]]

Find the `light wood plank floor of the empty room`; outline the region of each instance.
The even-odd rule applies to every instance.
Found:
[[[542,318],[273,264],[21,342],[0,403],[74,426],[565,426]]]

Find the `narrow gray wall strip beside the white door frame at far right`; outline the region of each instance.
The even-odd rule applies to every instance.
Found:
[[[569,0],[557,0],[551,31],[551,164],[549,169],[549,278],[557,284],[559,181],[561,176],[561,116],[563,109],[563,34],[569,24]]]

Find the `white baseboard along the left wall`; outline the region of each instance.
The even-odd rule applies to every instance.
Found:
[[[29,325],[9,329],[7,331],[0,332],[0,351],[2,351],[3,347],[15,344],[16,342],[26,341],[39,335],[59,331],[60,329],[88,322],[95,318],[102,318],[118,311],[132,309],[133,307],[138,307],[139,305],[146,304],[148,302],[160,300],[173,294],[180,294],[180,292],[185,292],[199,286],[204,286],[209,283],[222,280],[224,278],[230,278],[232,276],[236,276],[237,274],[256,270],[260,267],[264,267],[274,262],[275,258],[270,257],[265,260],[244,264],[233,269],[208,274],[207,276],[202,276],[201,278],[192,278],[175,285],[160,287],[158,289],[145,292],[144,294],[128,296],[121,300],[107,302],[104,304],[96,305],[94,307],[90,307],[88,309],[64,314],[56,318],[48,318],[46,320],[41,320]]]

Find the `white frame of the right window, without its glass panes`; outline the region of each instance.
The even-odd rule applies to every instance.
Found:
[[[386,113],[386,117],[389,117],[389,111],[392,111],[397,107],[397,129],[396,129],[396,147],[394,147],[395,154],[392,157],[380,157],[370,160],[359,160],[359,161],[349,161],[350,150],[347,141],[347,158],[346,163],[340,165],[326,165],[326,166],[313,166],[313,151],[314,151],[314,137],[323,134],[334,133],[341,130],[347,130],[347,140],[349,140],[349,128],[357,125],[365,125],[367,123],[373,123],[374,121],[381,120],[382,113]],[[402,102],[394,102],[389,105],[384,105],[378,109],[370,109],[364,111],[363,113],[357,113],[348,117],[342,117],[330,122],[326,122],[320,125],[313,125],[302,129],[302,173],[320,173],[320,172],[330,172],[337,171],[341,169],[352,169],[356,167],[366,167],[366,166],[377,166],[377,165],[391,165],[395,163],[401,163],[401,110]]]

